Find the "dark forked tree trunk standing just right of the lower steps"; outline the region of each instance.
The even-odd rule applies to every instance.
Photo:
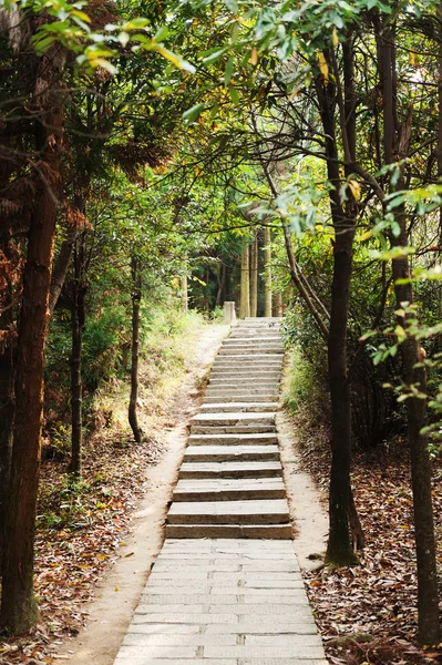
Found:
[[[347,50],[345,57],[351,54]],[[331,54],[331,59],[333,55]],[[331,64],[331,63],[330,63]],[[331,69],[331,66],[330,66]],[[337,68],[336,68],[337,70]],[[345,74],[349,69],[345,64]],[[339,72],[336,71],[335,84],[329,81],[317,81],[320,115],[326,135],[326,154],[328,178],[333,190],[330,191],[330,208],[335,228],[333,276],[331,284],[331,311],[328,335],[328,372],[331,398],[331,470],[329,518],[330,531],[326,560],[336,565],[352,565],[358,562],[351,546],[349,530],[349,502],[351,495],[351,393],[347,377],[347,321],[350,300],[350,280],[352,268],[352,244],[354,237],[356,205],[352,200],[345,211],[340,201],[341,186],[338,165],[338,150],[333,109],[338,101],[340,111],[340,130],[345,145],[346,161],[351,161],[354,146],[349,146],[348,122],[345,102],[340,95]],[[346,91],[351,91],[351,80],[345,81]]]

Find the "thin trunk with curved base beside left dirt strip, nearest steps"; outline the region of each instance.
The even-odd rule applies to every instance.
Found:
[[[138,400],[138,337],[140,337],[140,303],[142,275],[137,258],[131,263],[133,291],[132,291],[132,365],[131,365],[131,398],[129,401],[129,423],[132,428],[134,439],[137,443],[143,442],[143,431],[138,426],[136,405]]]

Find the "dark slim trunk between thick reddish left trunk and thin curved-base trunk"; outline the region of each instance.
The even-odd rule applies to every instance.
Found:
[[[72,356],[71,356],[71,463],[69,472],[81,477],[82,448],[83,448],[83,386],[81,377],[81,360],[83,347],[83,331],[85,323],[85,295],[84,284],[84,233],[75,241],[74,248],[74,279],[71,307],[72,328]]]

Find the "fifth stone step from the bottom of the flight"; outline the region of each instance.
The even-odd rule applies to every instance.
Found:
[[[277,461],[278,446],[188,446],[184,462]]]

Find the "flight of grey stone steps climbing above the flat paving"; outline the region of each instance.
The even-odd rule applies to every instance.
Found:
[[[191,422],[166,538],[291,538],[275,426],[282,359],[279,319],[245,319],[224,340]]]

